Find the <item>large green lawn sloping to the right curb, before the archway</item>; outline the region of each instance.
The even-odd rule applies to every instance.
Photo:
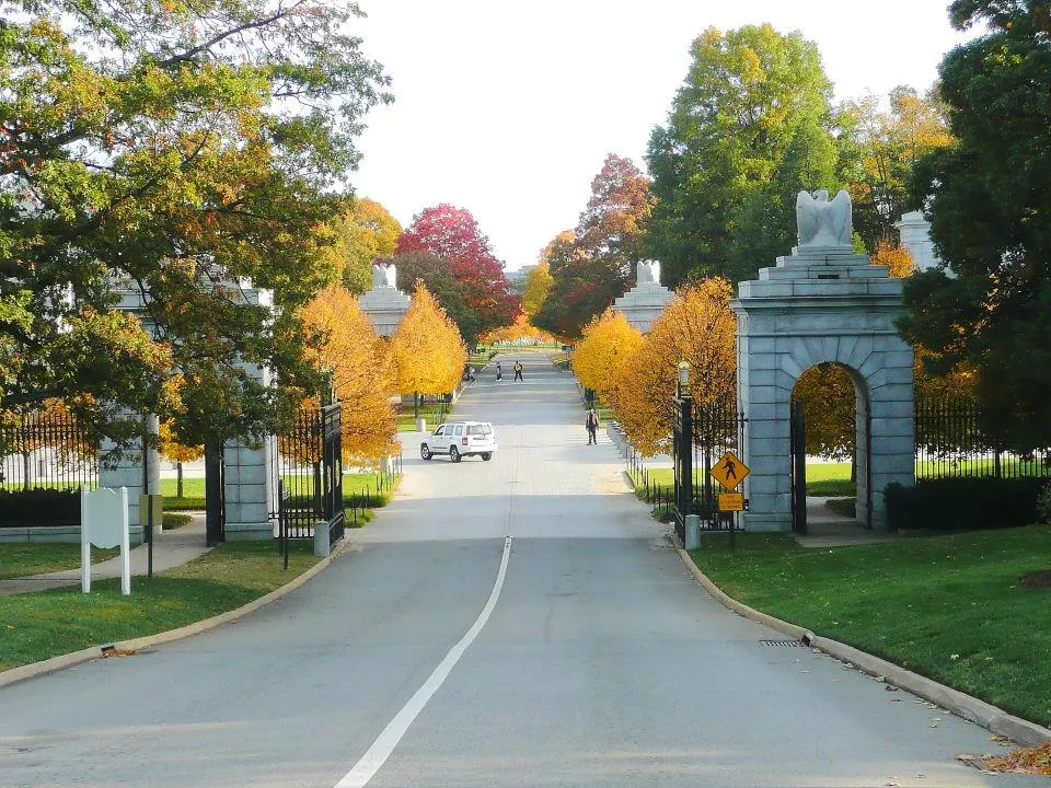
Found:
[[[833,549],[706,536],[694,563],[734,599],[1051,725],[1051,526]]]

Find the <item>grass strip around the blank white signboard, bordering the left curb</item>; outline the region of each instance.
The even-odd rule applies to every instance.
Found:
[[[229,542],[185,566],[131,580],[0,596],[0,670],[174,629],[251,602],[317,563],[313,544],[291,542],[288,571],[274,542]]]

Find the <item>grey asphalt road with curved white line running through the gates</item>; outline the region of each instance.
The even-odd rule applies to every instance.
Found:
[[[455,415],[492,462],[405,445],[397,499],[279,602],[0,690],[0,786],[1015,786],[988,731],[708,598],[523,354]],[[764,642],[773,641],[773,644]],[[1039,781],[1039,780],[1037,780]]]

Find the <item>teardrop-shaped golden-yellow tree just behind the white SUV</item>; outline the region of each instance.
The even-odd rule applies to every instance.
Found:
[[[421,281],[389,348],[399,394],[447,394],[467,363],[457,324]]]

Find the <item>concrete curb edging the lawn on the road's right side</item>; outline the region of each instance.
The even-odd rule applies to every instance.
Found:
[[[675,544],[675,551],[679,553],[682,563],[690,570],[690,573],[701,583],[704,590],[735,613],[758,624],[767,626],[771,629],[775,629],[783,635],[801,640],[808,646],[819,649],[838,660],[847,662],[869,675],[879,676],[888,684],[901,687],[902,690],[911,692],[913,695],[937,704],[957,717],[962,717],[966,720],[980,725],[982,728],[998,735],[1007,737],[1017,744],[1021,744],[1023,746],[1038,746],[1051,740],[1051,729],[1039,726],[1036,722],[1030,722],[1029,720],[1024,720],[1020,717],[1014,717],[984,700],[979,700],[958,690],[938,684],[936,681],[913,673],[893,662],[888,662],[879,657],[859,651],[853,646],[847,646],[831,638],[820,637],[809,629],[789,624],[781,618],[774,618],[772,615],[761,613],[746,604],[741,604],[737,600],[727,596],[718,586],[712,582],[712,580],[697,568],[690,555],[678,544]]]

